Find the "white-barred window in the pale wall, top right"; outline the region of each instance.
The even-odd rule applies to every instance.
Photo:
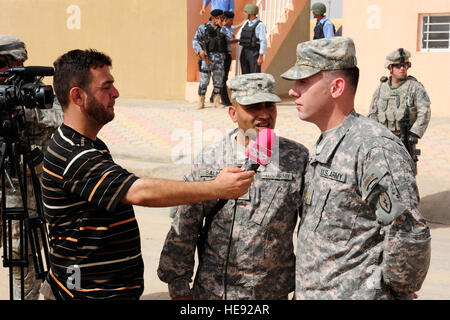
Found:
[[[450,50],[450,15],[422,15],[421,24],[421,50]]]

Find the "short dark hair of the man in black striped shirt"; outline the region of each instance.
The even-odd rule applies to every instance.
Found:
[[[53,87],[61,106],[69,105],[69,92],[73,87],[88,90],[91,82],[91,68],[111,66],[111,58],[94,49],[71,50],[53,63],[55,74]]]

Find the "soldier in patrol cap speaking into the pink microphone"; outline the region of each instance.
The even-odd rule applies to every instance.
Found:
[[[213,179],[226,165],[244,163],[247,132],[275,126],[275,102],[280,99],[273,93],[274,82],[265,73],[230,80],[231,97],[235,100],[229,115],[239,128],[207,146],[197,156],[186,180]],[[292,237],[301,206],[308,151],[283,137],[277,138],[272,151],[271,163],[258,168],[248,194],[228,201],[214,216],[192,289],[189,283],[197,234],[217,201],[178,207],[158,268],[158,276],[168,283],[173,299],[287,299],[294,290]]]

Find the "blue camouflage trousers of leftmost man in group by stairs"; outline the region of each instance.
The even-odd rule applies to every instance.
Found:
[[[209,85],[209,79],[213,78],[214,94],[220,94],[223,86],[223,74],[225,64],[225,53],[212,52],[209,54],[210,64],[206,64],[205,60],[201,62],[200,68],[200,84],[198,86],[198,95],[204,96]]]

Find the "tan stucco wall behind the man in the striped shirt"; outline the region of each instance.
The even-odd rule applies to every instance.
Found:
[[[77,22],[71,5],[79,29],[67,26]],[[0,0],[0,32],[26,43],[27,65],[95,48],[111,56],[122,97],[184,99],[186,20],[185,0]]]

